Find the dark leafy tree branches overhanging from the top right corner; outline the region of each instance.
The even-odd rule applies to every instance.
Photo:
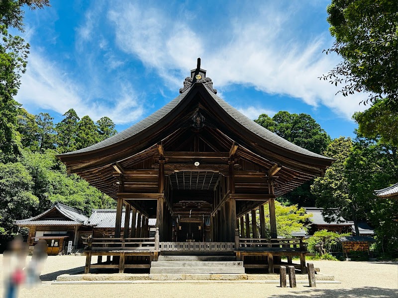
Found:
[[[343,58],[324,76],[343,84],[345,96],[371,92],[398,104],[398,9],[392,0],[332,0],[327,6],[330,33],[336,38],[328,52]]]

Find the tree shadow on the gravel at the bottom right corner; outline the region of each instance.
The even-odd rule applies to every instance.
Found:
[[[395,285],[398,288],[398,285]],[[269,298],[300,298],[300,297],[324,297],[324,298],[385,298],[385,297],[398,297],[397,289],[385,289],[376,287],[364,287],[354,289],[333,289],[333,290],[321,290],[312,289],[308,291],[296,292],[294,294],[281,294],[269,296]]]

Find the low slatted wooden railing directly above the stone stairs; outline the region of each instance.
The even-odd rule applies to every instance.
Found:
[[[234,251],[233,242],[160,242],[161,251]]]

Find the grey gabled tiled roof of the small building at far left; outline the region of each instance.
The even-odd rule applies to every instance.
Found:
[[[54,210],[58,211],[69,220],[46,219],[46,216]],[[88,218],[83,214],[83,211],[57,202],[53,205],[52,208],[44,211],[38,216],[25,220],[15,221],[15,223],[17,225],[46,225],[46,224],[74,225],[74,224],[84,224],[87,220]]]

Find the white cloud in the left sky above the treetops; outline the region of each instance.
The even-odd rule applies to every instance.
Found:
[[[60,114],[73,108],[80,117],[89,115],[94,121],[108,116],[116,124],[124,124],[142,117],[143,103],[128,83],[120,82],[120,91],[112,96],[112,102],[99,101],[90,98],[90,85],[74,81],[72,76],[55,63],[31,52],[29,67],[22,75],[16,99],[22,104],[35,104]]]

